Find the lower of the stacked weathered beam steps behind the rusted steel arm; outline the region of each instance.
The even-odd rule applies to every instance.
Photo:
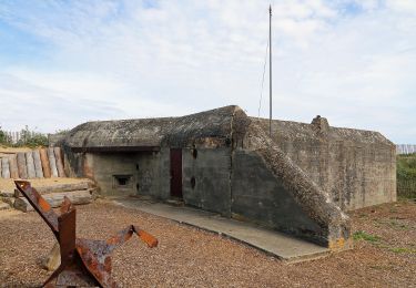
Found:
[[[42,195],[42,197],[52,206],[52,208],[60,207],[64,196],[67,196],[73,205],[89,204],[93,200],[91,189],[57,192]],[[33,210],[32,205],[30,205],[24,197],[16,198],[14,208],[22,212]]]

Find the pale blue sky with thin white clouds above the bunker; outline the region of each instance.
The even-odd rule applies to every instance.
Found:
[[[0,126],[53,133],[232,104],[267,117],[268,4],[0,0]],[[416,143],[415,0],[271,4],[274,119]]]

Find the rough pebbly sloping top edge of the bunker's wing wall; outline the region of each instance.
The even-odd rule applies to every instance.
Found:
[[[349,218],[331,200],[329,195],[296,166],[258,125],[250,124],[243,142],[245,147],[264,158],[282,186],[311,219],[319,225],[321,235],[315,235],[315,239],[331,249],[347,248],[351,244]]]

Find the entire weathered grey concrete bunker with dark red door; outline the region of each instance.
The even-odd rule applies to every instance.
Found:
[[[88,122],[57,144],[67,173],[95,181],[103,196],[181,198],[332,249],[349,245],[343,209],[395,200],[395,147],[379,133],[331,127],[323,117],[274,121],[273,138],[266,131],[265,120],[225,106]]]

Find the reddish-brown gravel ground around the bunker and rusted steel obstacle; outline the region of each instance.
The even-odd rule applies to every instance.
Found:
[[[354,212],[353,250],[287,265],[215,234],[97,202],[78,207],[78,236],[105,239],[136,224],[159,238],[132,238],[113,254],[122,287],[416,287],[416,203]],[[364,237],[365,238],[365,237]],[[53,236],[35,213],[0,212],[0,287],[39,287]]]

